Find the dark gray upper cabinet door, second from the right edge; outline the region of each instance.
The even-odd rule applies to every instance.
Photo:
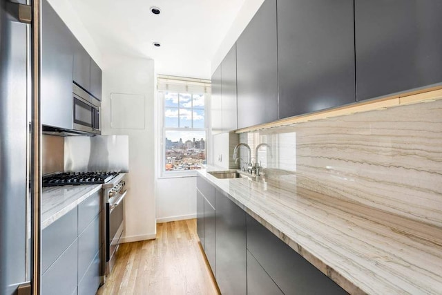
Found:
[[[353,0],[278,0],[279,118],[356,102]]]

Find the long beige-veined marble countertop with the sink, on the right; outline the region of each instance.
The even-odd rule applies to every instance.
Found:
[[[199,173],[351,294],[442,293],[440,227],[302,189],[294,175],[289,187]]]

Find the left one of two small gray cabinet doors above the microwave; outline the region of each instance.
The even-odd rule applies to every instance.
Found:
[[[90,56],[77,39],[75,39],[74,50],[73,80],[75,84],[90,92]]]

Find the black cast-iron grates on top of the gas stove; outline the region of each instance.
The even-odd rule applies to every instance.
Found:
[[[43,177],[43,187],[62,185],[103,184],[118,175],[118,172],[72,172],[57,173]]]

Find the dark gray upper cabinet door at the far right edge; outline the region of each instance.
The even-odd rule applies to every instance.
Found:
[[[442,1],[355,0],[358,101],[442,82]]]

